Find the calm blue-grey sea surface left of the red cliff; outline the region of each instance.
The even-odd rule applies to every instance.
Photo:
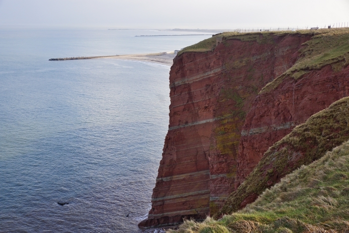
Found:
[[[195,34],[0,29],[1,233],[142,232],[168,130],[170,66],[48,59],[174,51],[210,37],[135,36],[185,33]]]

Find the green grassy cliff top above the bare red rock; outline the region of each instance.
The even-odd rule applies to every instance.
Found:
[[[332,65],[333,70],[341,70],[349,64],[349,28],[332,28],[297,31],[263,31],[263,32],[223,32],[196,44],[183,48],[177,56],[185,52],[207,52],[216,47],[217,37],[226,40],[256,41],[258,43],[274,43],[275,36],[286,34],[311,35],[312,39],[305,42],[299,50],[297,62],[286,72],[268,83],[259,94],[270,92],[287,78],[300,79],[311,70],[319,70]],[[224,44],[224,41],[222,41]]]

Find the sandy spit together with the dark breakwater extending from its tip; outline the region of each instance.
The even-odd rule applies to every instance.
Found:
[[[172,66],[173,59],[175,56],[176,55],[174,54],[174,52],[158,52],[158,53],[129,54],[129,55],[51,58],[49,59],[49,61],[111,58],[111,59],[131,60],[131,61],[146,61],[146,62],[160,63],[160,64]]]

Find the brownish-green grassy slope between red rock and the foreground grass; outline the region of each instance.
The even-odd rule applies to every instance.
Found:
[[[348,140],[349,97],[346,97],[314,114],[271,146],[215,217],[238,211],[285,175],[321,158]]]

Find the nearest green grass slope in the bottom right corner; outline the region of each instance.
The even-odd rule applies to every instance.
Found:
[[[349,141],[219,221],[186,221],[168,233],[349,232]]]

